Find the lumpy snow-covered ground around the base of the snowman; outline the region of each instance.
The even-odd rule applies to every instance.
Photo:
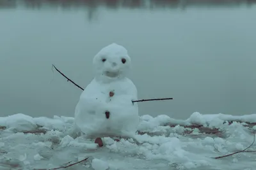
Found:
[[[213,158],[252,144],[256,126],[241,122],[256,122],[256,115],[196,112],[187,120],[143,115],[134,139],[116,142],[103,138],[104,146],[99,148],[93,139],[76,136],[72,117],[32,118],[19,113],[0,117],[0,169],[49,169],[86,157],[88,160],[67,169],[256,169],[253,152]],[[204,134],[191,126],[195,124],[221,132]],[[256,144],[249,150],[256,150]]]

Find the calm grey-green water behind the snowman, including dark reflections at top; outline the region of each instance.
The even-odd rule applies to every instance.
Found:
[[[113,42],[129,50],[140,99],[174,98],[140,103],[141,115],[256,113],[253,1],[15,2],[0,3],[0,116],[73,116],[81,90],[51,65],[86,87]]]

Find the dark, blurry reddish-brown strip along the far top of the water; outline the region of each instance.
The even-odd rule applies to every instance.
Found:
[[[61,7],[61,8],[186,8],[189,6],[236,6],[239,4],[253,4],[256,0],[1,0],[0,8]]]

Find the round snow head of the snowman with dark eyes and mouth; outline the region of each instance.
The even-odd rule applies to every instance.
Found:
[[[111,81],[124,78],[131,68],[131,58],[124,46],[112,43],[93,58],[96,78],[101,81]]]

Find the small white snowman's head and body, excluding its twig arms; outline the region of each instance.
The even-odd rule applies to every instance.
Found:
[[[134,83],[127,78],[131,58],[124,46],[112,43],[93,58],[95,77],[84,89],[75,110],[75,124],[86,138],[134,138],[139,124]]]

